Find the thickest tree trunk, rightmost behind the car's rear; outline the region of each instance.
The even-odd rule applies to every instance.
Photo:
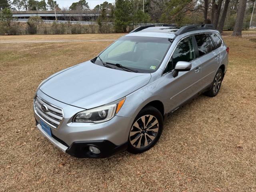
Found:
[[[233,36],[242,36],[243,22],[244,22],[244,13],[246,8],[246,0],[240,0],[237,15],[236,23],[233,30]]]

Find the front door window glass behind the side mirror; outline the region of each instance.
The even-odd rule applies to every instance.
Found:
[[[183,39],[174,50],[164,74],[173,70],[178,61],[190,62],[196,58],[192,36]]]

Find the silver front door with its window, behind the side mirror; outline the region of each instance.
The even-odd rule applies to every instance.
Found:
[[[178,61],[191,62],[190,71],[179,72],[177,77],[172,76],[172,70]],[[172,54],[164,73],[165,106],[167,111],[174,110],[180,104],[198,93],[201,89],[200,79],[202,78],[201,62],[196,58],[196,51],[193,37],[189,36],[180,41]],[[167,96],[168,95],[168,96]]]

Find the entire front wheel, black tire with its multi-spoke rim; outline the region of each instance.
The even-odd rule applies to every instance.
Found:
[[[143,124],[144,128],[142,128]],[[130,129],[127,151],[132,154],[138,154],[152,148],[159,140],[162,134],[163,126],[164,119],[159,110],[152,106],[143,108],[136,116]],[[156,130],[157,132],[155,132]],[[135,132],[138,133],[134,134]],[[134,142],[134,140],[136,141]],[[137,147],[135,146],[136,144]]]

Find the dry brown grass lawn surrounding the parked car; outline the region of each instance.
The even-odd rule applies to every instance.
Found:
[[[218,96],[199,96],[168,117],[148,152],[98,160],[52,146],[36,129],[32,100],[44,78],[110,42],[0,44],[0,190],[254,192],[256,43],[224,39],[230,62]]]

